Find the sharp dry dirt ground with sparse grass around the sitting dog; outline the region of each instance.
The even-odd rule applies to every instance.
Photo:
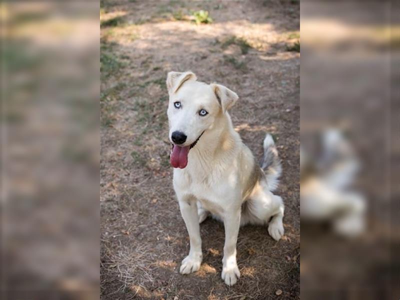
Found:
[[[191,20],[200,9],[211,23]],[[299,298],[298,2],[103,1],[100,21],[101,298]],[[285,235],[240,228],[232,287],[220,278],[223,224],[213,219],[200,226],[200,270],[178,272],[188,236],[169,165],[171,70],[235,91],[230,115],[243,141],[260,159],[271,132],[282,159]]]

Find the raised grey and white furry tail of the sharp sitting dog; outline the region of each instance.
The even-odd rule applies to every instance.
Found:
[[[272,136],[267,133],[263,142],[264,157],[261,160],[261,168],[264,170],[269,190],[273,191],[279,183],[278,177],[282,171],[278,151]]]

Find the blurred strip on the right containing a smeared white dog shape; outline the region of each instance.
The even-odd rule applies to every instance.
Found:
[[[398,12],[301,3],[303,299],[399,297]]]

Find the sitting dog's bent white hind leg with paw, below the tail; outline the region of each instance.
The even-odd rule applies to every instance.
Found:
[[[242,205],[240,225],[262,225],[272,217],[268,224],[268,233],[273,239],[279,240],[284,233],[283,212],[282,198],[259,186]]]

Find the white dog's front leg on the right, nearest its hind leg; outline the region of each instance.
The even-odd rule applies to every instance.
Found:
[[[240,226],[240,207],[229,211],[223,218],[225,227],[225,244],[223,246],[221,277],[227,285],[233,285],[240,277],[236,263],[236,241]]]

